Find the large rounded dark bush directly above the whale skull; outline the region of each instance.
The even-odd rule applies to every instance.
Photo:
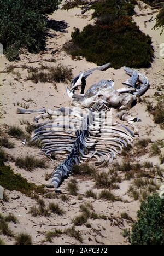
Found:
[[[124,65],[138,68],[148,66],[153,57],[151,38],[128,16],[108,24],[97,21],[82,32],[75,28],[72,41],[80,48],[72,55],[81,55],[97,65],[110,62],[114,68]]]

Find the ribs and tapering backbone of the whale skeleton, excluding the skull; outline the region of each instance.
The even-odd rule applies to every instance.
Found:
[[[73,165],[91,158],[96,158],[96,166],[108,164],[132,143],[134,133],[128,127],[112,123],[110,111],[95,110],[87,110],[85,114],[76,110],[65,115],[61,112],[59,117],[37,124],[32,140],[40,140],[45,155],[49,158],[68,155],[52,173],[51,183],[55,188],[71,174]]]

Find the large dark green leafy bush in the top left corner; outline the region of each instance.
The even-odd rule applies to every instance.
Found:
[[[45,48],[48,16],[60,0],[0,0],[0,42],[10,61],[19,59],[19,49],[31,53]]]

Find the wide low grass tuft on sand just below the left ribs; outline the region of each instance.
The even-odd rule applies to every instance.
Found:
[[[46,168],[45,161],[34,158],[34,156],[25,156],[25,158],[17,158],[15,165],[27,171],[32,171],[34,168]]]

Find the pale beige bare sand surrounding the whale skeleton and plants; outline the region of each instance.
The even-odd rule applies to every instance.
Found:
[[[65,1],[62,1],[65,2]],[[144,4],[142,4],[142,9],[136,8],[137,14],[149,13],[151,9],[147,7],[144,9]],[[153,96],[157,91],[157,86],[163,85],[163,67],[164,58],[160,56],[160,44],[164,43],[163,34],[160,35],[160,30],[153,30],[154,22],[147,22],[147,26],[144,26],[144,21],[149,20],[151,16],[156,16],[156,14],[148,16],[134,16],[133,19],[137,22],[140,30],[149,34],[153,39],[153,47],[155,50],[154,62],[149,69],[140,69],[147,75],[150,81],[150,89],[146,92],[145,96]],[[93,22],[91,20],[91,11],[87,12],[85,15],[81,15],[80,9],[73,9],[69,11],[63,11],[58,9],[54,14],[50,16],[50,19],[55,19],[58,24],[62,25],[62,29],[59,31],[51,31],[53,37],[48,38],[47,50],[45,53],[36,54],[21,54],[21,60],[16,62],[15,65],[21,67],[21,65],[26,64],[28,66],[37,67],[39,62],[29,64],[32,61],[46,60],[55,57],[57,64],[62,63],[67,67],[71,67],[73,74],[77,75],[81,71],[85,71],[90,68],[96,67],[94,63],[87,62],[85,59],[82,60],[72,60],[71,56],[68,56],[65,51],[62,50],[62,45],[69,39],[71,39],[71,32],[73,27],[77,26],[83,29],[84,26]],[[52,51],[58,50],[54,55]],[[142,57],[142,56],[141,56]],[[40,63],[46,63],[45,61]],[[12,63],[13,64],[13,63]],[[11,65],[11,63],[5,59],[5,57],[0,58],[0,70],[3,71],[6,66]],[[56,65],[51,63],[51,65]],[[57,83],[55,86],[50,83],[38,83],[33,84],[31,81],[27,81],[27,69],[22,70],[22,68],[16,68],[15,71],[20,71],[21,79],[17,79],[16,75],[1,73],[0,74],[0,93],[1,93],[1,105],[0,113],[3,114],[0,119],[1,127],[5,125],[20,125],[20,120],[27,119],[32,121],[35,114],[18,115],[16,113],[17,102],[28,103],[30,109],[40,109],[45,107],[46,109],[56,109],[61,106],[70,106],[71,101],[66,94],[65,87],[66,84]],[[115,88],[121,88],[121,82],[127,78],[124,70],[122,68],[114,70],[109,68],[107,71],[101,72],[96,71],[93,73],[89,79],[87,79],[87,88],[89,88],[93,83],[98,82],[101,79],[114,79]],[[29,102],[29,99],[32,102]],[[152,141],[157,141],[157,139],[164,139],[164,132],[159,126],[155,125],[151,115],[146,112],[146,107],[144,103],[137,103],[137,105],[131,109],[132,114],[138,114],[142,119],[141,123],[136,124],[139,130],[140,138],[150,137]],[[25,129],[25,125],[22,126]],[[21,143],[21,140],[16,140],[11,138],[12,141],[16,143],[14,149],[6,150],[7,153],[17,156],[25,156],[27,154],[37,156],[40,159],[45,159],[48,168],[46,170],[36,169],[33,172],[27,172],[25,170],[19,169],[14,163],[9,163],[13,168],[15,173],[20,173],[22,177],[25,177],[30,182],[34,182],[38,185],[46,184],[45,173],[51,174],[54,167],[61,161],[50,161],[45,158],[45,156],[40,152],[40,149],[34,147],[27,147]],[[119,156],[115,161],[122,162],[123,157]],[[154,165],[160,164],[159,157],[150,158],[149,154],[145,156],[136,156],[138,162],[143,162],[146,160],[152,161]],[[99,192],[96,189],[93,180],[81,180],[78,179],[79,194],[83,196],[82,200],[78,200],[76,196],[69,195],[67,191],[68,181],[65,181],[61,185],[62,193],[66,194],[68,197],[67,202],[63,202],[60,195],[56,195],[55,199],[44,199],[46,205],[49,202],[57,202],[66,211],[63,216],[57,216],[52,214],[50,217],[31,217],[28,213],[32,205],[36,205],[36,200],[31,199],[17,191],[7,191],[10,201],[8,203],[0,202],[0,212],[7,214],[13,213],[19,219],[19,224],[9,224],[10,228],[15,232],[28,232],[32,236],[34,245],[48,244],[49,242],[43,242],[45,238],[45,233],[51,231],[54,228],[65,230],[72,226],[72,218],[76,216],[80,210],[79,206],[81,203],[91,202],[96,213],[105,214],[110,217],[110,220],[96,219],[89,220],[91,228],[86,228],[85,225],[77,227],[83,234],[83,244],[84,245],[127,245],[128,241],[122,236],[122,230],[125,228],[130,228],[131,223],[127,220],[121,220],[122,224],[119,224],[120,214],[122,212],[127,212],[133,219],[136,218],[136,212],[139,209],[140,202],[134,201],[127,194],[127,190],[131,181],[122,181],[120,184],[120,189],[114,191],[116,195],[119,195],[124,200],[128,202],[107,202],[101,199],[87,199],[84,194],[86,190],[93,189],[95,192]],[[17,199],[19,196],[19,199]],[[115,220],[114,218],[115,217]],[[3,236],[1,236],[3,237]],[[4,237],[5,243],[8,245],[13,245],[14,239],[9,237]],[[80,242],[71,238],[67,235],[62,235],[61,237],[54,238],[54,245],[78,245]]]

